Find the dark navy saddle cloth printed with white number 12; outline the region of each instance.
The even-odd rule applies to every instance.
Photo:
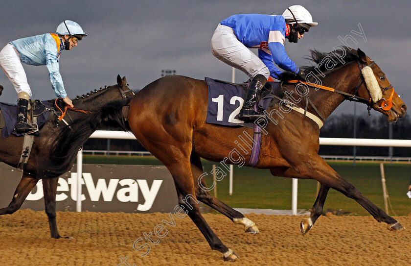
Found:
[[[233,84],[206,77],[208,85],[208,105],[206,122],[224,126],[244,126],[254,128],[254,123],[245,123],[238,119],[244,97],[246,96],[247,83]],[[267,82],[271,92],[266,92],[258,101],[260,112],[267,110],[273,100],[271,93],[279,86],[278,82]]]

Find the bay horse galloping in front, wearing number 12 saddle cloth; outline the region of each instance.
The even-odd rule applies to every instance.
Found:
[[[330,53],[314,50],[311,59],[318,63],[318,66],[306,67],[304,72],[320,71],[322,74],[317,74],[316,78],[321,81],[323,88],[329,89],[328,91],[316,90],[311,87],[307,93],[312,102],[312,105],[308,106],[308,111],[316,114],[317,120],[320,118],[326,120],[342,101],[355,98],[362,99],[370,108],[386,115],[388,121],[397,121],[405,116],[407,106],[394,92],[378,65],[362,50],[343,48]],[[325,59],[329,60],[328,63]],[[332,68],[330,62],[333,62]],[[382,93],[383,98],[375,103],[371,101],[370,91],[364,82],[361,72],[363,66],[371,68],[371,74],[374,74],[375,82],[379,85],[377,90],[381,90]],[[293,91],[295,92],[293,97],[298,97],[296,83],[285,82],[282,84],[282,90],[277,91],[275,92],[277,97],[291,95]],[[238,259],[237,255],[224,245],[208,226],[200,213],[198,201],[219,211],[234,223],[242,224],[248,233],[258,233],[258,228],[250,219],[228,207],[204,189],[207,185],[202,178],[204,172],[200,158],[224,162],[224,164],[242,165],[244,162],[236,161],[228,154],[234,148],[238,148],[238,145],[235,145],[238,143],[236,142],[238,136],[243,134],[243,131],[252,136],[253,129],[206,123],[207,98],[208,87],[204,80],[176,75],[162,77],[148,84],[132,98],[127,117],[128,125],[137,140],[170,171],[179,204],[181,206],[186,204],[188,208],[184,208],[185,212],[200,229],[211,249],[223,253],[224,260],[235,261]],[[304,108],[308,98],[301,97],[301,101],[295,105]],[[275,108],[278,109],[280,103],[270,106],[267,113],[272,114]],[[120,111],[119,109],[118,112]],[[386,222],[389,230],[404,229],[397,220],[369,201],[318,155],[320,147],[318,123],[295,111],[285,112],[282,116],[282,119],[278,120],[276,117],[277,121],[269,122],[264,127],[267,133],[262,135],[261,150],[255,168],[270,169],[274,176],[310,178],[320,182],[320,192],[310,210],[311,215],[309,218],[303,218],[300,223],[300,231],[303,235],[320,217],[330,188],[356,200],[377,221]],[[80,125],[76,124],[76,126]],[[79,134],[71,134],[70,137],[71,132],[66,131],[66,133],[68,135],[63,137],[68,140],[79,137]],[[251,148],[246,145],[242,148],[247,152],[243,154],[245,160],[250,161]]]

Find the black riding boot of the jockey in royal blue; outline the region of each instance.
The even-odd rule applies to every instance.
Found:
[[[241,108],[239,119],[245,122],[253,122],[259,118],[264,118],[264,114],[259,114],[253,110],[254,104],[257,103],[257,96],[264,87],[267,79],[265,76],[258,74],[256,75],[250,83],[247,90],[246,98],[244,99],[243,108]]]

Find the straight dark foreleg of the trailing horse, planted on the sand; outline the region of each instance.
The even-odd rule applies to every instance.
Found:
[[[48,224],[50,226],[51,237],[56,239],[61,238],[57,230],[56,222],[56,193],[58,181],[59,177],[43,179],[44,203],[46,205]]]

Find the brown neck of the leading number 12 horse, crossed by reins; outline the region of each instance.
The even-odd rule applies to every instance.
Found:
[[[355,62],[352,62],[349,66],[347,65],[329,73],[325,73],[325,77],[321,80],[322,86],[353,94],[361,74],[359,69],[357,72],[353,69],[357,67],[356,65]],[[310,90],[314,90],[314,88],[310,87]],[[336,92],[330,93],[322,89],[313,92],[309,97],[324,119],[327,119],[327,117],[329,117],[346,99],[346,96],[343,96],[342,94]]]

